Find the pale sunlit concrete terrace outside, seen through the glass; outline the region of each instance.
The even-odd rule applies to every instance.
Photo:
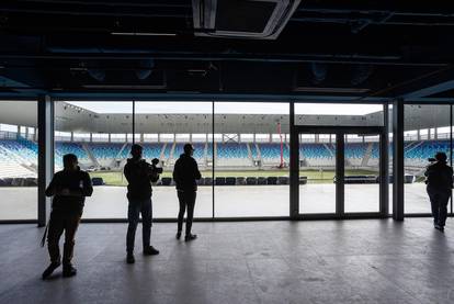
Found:
[[[393,189],[389,188],[391,198]],[[423,183],[406,184],[407,213],[430,213]],[[241,185],[215,188],[215,216],[288,216],[288,185]],[[36,218],[36,188],[0,188],[0,219]],[[336,210],[333,183],[299,187],[303,213],[332,213]],[[391,205],[389,210],[393,210]],[[125,187],[95,187],[87,199],[84,218],[124,218],[127,211]],[[345,184],[345,212],[378,212],[378,184]],[[178,199],[173,187],[154,188],[155,217],[174,218]],[[196,217],[212,217],[213,189],[201,187],[195,207]]]

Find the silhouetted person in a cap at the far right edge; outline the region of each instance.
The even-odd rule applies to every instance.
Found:
[[[432,215],[434,227],[441,232],[444,230],[447,215],[447,202],[451,198],[453,188],[453,169],[446,165],[446,154],[438,153],[435,162],[428,166],[424,176],[427,191],[432,205]]]

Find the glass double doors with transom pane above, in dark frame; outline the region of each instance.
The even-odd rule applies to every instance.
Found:
[[[383,104],[296,103],[295,124],[302,126],[350,127],[343,135],[343,212],[379,212],[379,134],[368,134],[362,127],[385,125]],[[356,131],[357,130],[357,131]],[[321,132],[321,131],[320,131]],[[343,134],[343,133],[342,133]],[[339,184],[334,134],[302,134],[299,138],[299,212],[336,212],[336,190]],[[339,165],[339,164],[338,164]],[[340,165],[339,165],[340,166]],[[339,204],[341,210],[341,204]],[[341,213],[341,211],[338,211]]]

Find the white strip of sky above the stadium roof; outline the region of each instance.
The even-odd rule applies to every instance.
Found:
[[[99,114],[124,114],[133,112],[132,102],[83,101],[67,102]],[[272,102],[216,102],[218,114],[288,114],[288,103]],[[381,104],[297,103],[296,114],[308,115],[365,115],[383,111]],[[138,114],[211,114],[211,102],[136,102]]]

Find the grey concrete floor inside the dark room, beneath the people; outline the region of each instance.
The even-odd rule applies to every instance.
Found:
[[[453,219],[444,235],[430,218],[195,223],[190,244],[174,230],[156,224],[161,254],[130,266],[125,224],[82,224],[78,275],[43,282],[43,229],[0,225],[0,303],[454,303]]]

